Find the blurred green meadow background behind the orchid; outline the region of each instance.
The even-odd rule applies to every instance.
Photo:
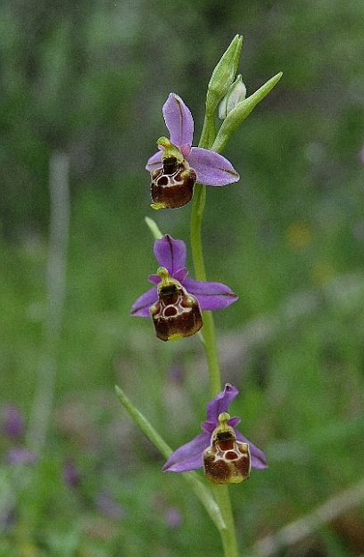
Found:
[[[364,554],[363,29],[362,0],[0,4],[0,404],[26,422],[19,438],[4,424],[0,436],[1,557],[221,555],[113,386],[171,446],[200,431],[199,340],[165,345],[128,313],[155,272],[144,217],[188,243],[191,205],[149,206],[162,103],[170,91],[185,100],[197,143],[211,71],[236,33],[248,94],[284,73],[224,153],[241,180],[208,189],[203,224],[209,279],[240,296],[216,315],[223,380],[240,389],[232,414],[269,459],[230,490],[239,544],[252,554],[327,504],[301,541],[255,550]],[[70,229],[57,309],[46,277],[60,153]],[[14,446],[37,446],[37,463],[7,463]],[[350,487],[340,510],[333,497]]]

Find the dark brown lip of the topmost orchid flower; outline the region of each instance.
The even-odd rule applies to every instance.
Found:
[[[156,206],[177,209],[191,201],[197,175],[186,160],[178,162],[176,157],[163,159],[162,168],[151,173],[151,193]]]

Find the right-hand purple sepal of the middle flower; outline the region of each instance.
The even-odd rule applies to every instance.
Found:
[[[186,278],[183,286],[187,292],[193,294],[199,301],[203,310],[222,309],[230,306],[238,299],[238,296],[226,284],[202,283],[194,279]]]

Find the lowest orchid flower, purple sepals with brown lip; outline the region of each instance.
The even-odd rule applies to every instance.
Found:
[[[204,468],[213,483],[239,483],[248,479],[251,468],[263,470],[267,461],[261,449],[236,430],[239,418],[227,414],[238,389],[227,383],[207,405],[203,433],[180,446],[164,464],[163,471],[184,472]]]

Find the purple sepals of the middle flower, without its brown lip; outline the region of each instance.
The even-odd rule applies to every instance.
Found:
[[[199,302],[202,310],[222,309],[230,306],[238,299],[238,296],[226,284],[209,283],[187,278],[186,269],[186,244],[182,240],[175,240],[169,234],[165,234],[161,240],[154,242],[154,255],[159,266],[165,267],[170,276],[177,280],[192,294]],[[151,274],[148,277],[154,286],[151,290],[142,294],[131,308],[131,315],[150,317],[149,308],[158,301],[158,283],[161,282],[159,274]]]

